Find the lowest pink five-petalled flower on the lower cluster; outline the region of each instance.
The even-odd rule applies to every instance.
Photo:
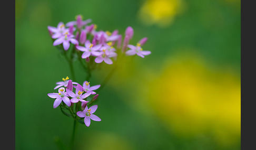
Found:
[[[93,114],[97,110],[97,108],[98,108],[98,105],[93,105],[90,107],[90,109],[88,109],[88,107],[86,106],[84,111],[78,111],[76,114],[79,117],[84,117],[85,125],[90,126],[91,120],[101,121],[101,119],[98,116]]]

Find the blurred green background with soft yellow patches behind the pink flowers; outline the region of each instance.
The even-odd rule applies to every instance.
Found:
[[[78,124],[76,149],[241,149],[241,3],[238,0],[15,1],[15,147],[58,149],[73,120],[53,109],[71,76],[47,26],[91,18],[97,29],[134,29],[145,58],[127,57],[100,91],[101,122]],[[85,74],[76,61],[77,82]],[[93,72],[101,84],[110,65]]]

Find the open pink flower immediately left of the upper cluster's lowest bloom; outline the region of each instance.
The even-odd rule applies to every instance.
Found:
[[[91,42],[89,40],[87,40],[85,42],[85,47],[83,46],[76,46],[76,49],[80,50],[80,51],[84,51],[84,53],[82,54],[82,58],[86,58],[89,56],[99,56],[101,55],[101,52],[98,51],[101,48],[101,44],[99,45],[93,45],[91,44]]]

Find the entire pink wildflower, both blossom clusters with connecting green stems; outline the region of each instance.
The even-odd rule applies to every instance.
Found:
[[[91,120],[101,121],[93,113],[97,105],[95,102],[99,91],[110,79],[118,65],[122,64],[123,56],[137,55],[144,58],[150,55],[151,51],[145,51],[142,46],[146,43],[144,37],[136,44],[130,44],[134,31],[132,27],[127,27],[124,36],[119,34],[119,30],[103,31],[97,30],[97,26],[92,24],[91,19],[83,20],[81,15],[77,15],[75,20],[64,24],[58,23],[57,27],[48,26],[48,31],[53,39],[53,46],[61,50],[68,62],[71,76],[75,80],[73,62],[78,59],[87,76],[83,84],[73,82],[68,77],[57,82],[54,90],[56,93],[48,93],[48,97],[55,99],[53,108],[59,107],[63,114],[73,117],[74,122],[78,121],[90,126]],[[88,80],[92,77],[92,71],[101,68],[102,62],[111,65],[112,70],[107,74],[102,84],[90,86]],[[81,71],[81,70],[79,70]],[[81,73],[81,72],[80,72]],[[105,74],[102,74],[104,76]],[[73,90],[74,89],[74,90]],[[84,121],[82,121],[84,119]]]

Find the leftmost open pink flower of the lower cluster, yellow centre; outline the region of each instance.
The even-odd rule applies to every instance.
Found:
[[[58,105],[63,101],[67,106],[71,106],[70,99],[67,98],[67,92],[65,92],[65,88],[58,89],[58,93],[48,93],[48,97],[56,99],[53,103],[53,108],[57,108]]]

